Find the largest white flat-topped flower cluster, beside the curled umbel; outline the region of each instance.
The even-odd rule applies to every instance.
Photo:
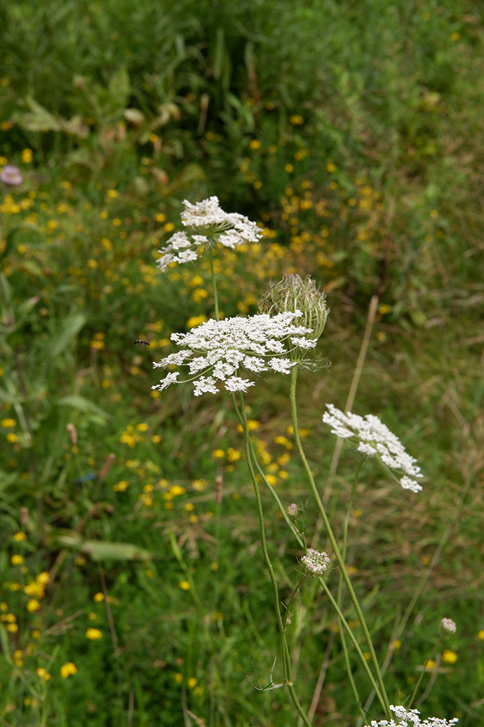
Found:
[[[314,348],[317,341],[305,336],[312,333],[310,328],[293,326],[292,321],[301,315],[285,311],[277,316],[263,313],[249,318],[226,318],[223,321],[210,321],[197,326],[188,333],[172,333],[171,340],[184,347],[179,353],[171,353],[155,368],[167,366],[188,366],[194,380],[194,395],[205,392],[218,393],[216,383],[223,381],[228,391],[247,391],[253,382],[237,376],[239,369],[253,371],[279,371],[289,374],[295,361],[284,356],[293,347]],[[208,375],[207,375],[208,374]],[[170,384],[178,383],[179,371],[168,373],[153,389],[163,391]]]

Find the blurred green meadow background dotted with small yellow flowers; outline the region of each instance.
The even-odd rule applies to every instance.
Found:
[[[22,176],[0,182],[1,723],[297,721],[284,690],[244,678],[268,683],[277,635],[231,401],[151,391],[170,334],[213,316],[205,261],[155,267],[182,200],[210,195],[264,232],[216,257],[226,316],[255,313],[284,273],[326,287],[318,352],[332,366],[302,374],[299,393],[321,489],[335,446],[324,404],[344,407],[379,297],[353,410],[401,438],[424,491],[366,466],[348,567],[378,656],[395,648],[390,702],[411,694],[448,616],[458,631],[419,709],[482,723],[482,5],[15,0],[0,28],[0,167]],[[311,537],[288,392],[284,377],[258,382],[250,417]],[[337,529],[356,462],[343,449]],[[268,494],[264,505],[287,601],[300,551]],[[329,654],[314,725],[355,724],[316,584],[291,628],[306,710]],[[366,699],[360,667],[354,678]]]

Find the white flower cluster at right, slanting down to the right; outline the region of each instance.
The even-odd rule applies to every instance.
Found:
[[[373,414],[366,414],[366,417],[358,417],[358,414],[344,414],[333,404],[327,404],[323,414],[324,424],[332,427],[332,433],[343,439],[356,436],[360,440],[358,451],[373,456],[378,454],[382,462],[392,470],[403,470],[405,475],[401,477],[400,483],[403,489],[419,492],[422,486],[413,477],[423,477],[420,474],[420,467],[415,467],[417,459],[410,457],[405,447],[395,434],[390,432],[378,417]],[[408,476],[410,475],[410,477]]]

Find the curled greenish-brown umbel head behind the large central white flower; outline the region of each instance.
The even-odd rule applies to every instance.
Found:
[[[313,329],[308,338],[318,339],[323,332],[329,309],[326,307],[326,296],[321,293],[310,276],[301,278],[298,275],[285,275],[279,283],[271,284],[270,289],[259,300],[259,312],[275,316],[284,310],[300,310],[302,316],[297,319],[298,326]]]

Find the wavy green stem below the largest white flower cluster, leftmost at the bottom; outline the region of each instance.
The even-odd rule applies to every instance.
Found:
[[[295,694],[294,686],[292,684],[289,649],[287,648],[286,635],[284,633],[284,624],[282,623],[281,610],[279,608],[279,590],[277,588],[276,577],[274,575],[274,569],[272,567],[271,558],[269,557],[268,550],[267,550],[267,544],[266,544],[266,529],[264,527],[264,515],[263,515],[263,510],[262,510],[261,492],[259,491],[259,488],[258,488],[252,458],[250,457],[250,436],[249,436],[249,430],[247,427],[247,414],[245,412],[244,395],[242,394],[242,391],[239,392],[239,401],[240,401],[240,411],[242,413],[242,427],[244,428],[244,437],[245,437],[245,459],[247,460],[247,467],[249,468],[250,479],[252,480],[253,488],[254,488],[254,492],[255,492],[255,500],[257,502],[257,511],[258,511],[258,517],[259,517],[259,528],[261,531],[262,552],[263,552],[264,560],[266,561],[268,574],[271,579],[272,593],[274,594],[274,610],[276,611],[277,626],[279,627],[279,633],[281,635],[281,640],[282,640],[282,665],[284,668],[284,683],[289,688],[290,695],[292,697],[292,702],[294,702],[295,707],[298,710],[300,717],[303,719],[303,722],[305,723],[306,727],[311,727],[311,723],[309,722],[308,718],[306,717],[303,707],[301,707],[301,705],[299,703],[298,697]]]

